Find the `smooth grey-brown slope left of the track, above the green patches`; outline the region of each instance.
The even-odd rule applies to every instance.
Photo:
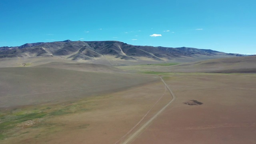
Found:
[[[0,68],[0,107],[69,101],[155,80],[135,74],[79,72],[58,68]]]

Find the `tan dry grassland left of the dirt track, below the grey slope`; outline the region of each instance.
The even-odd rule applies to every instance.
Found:
[[[6,130],[6,138],[1,143],[111,144],[139,122],[159,98],[160,101],[134,129],[136,130],[171,99],[160,80],[78,101],[2,110],[2,113],[8,114],[6,118],[31,112],[45,115],[18,123],[16,128]]]

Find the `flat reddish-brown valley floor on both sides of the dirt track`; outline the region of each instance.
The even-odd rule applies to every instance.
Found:
[[[118,141],[124,142],[172,99],[158,78],[159,82],[95,98],[5,110],[10,115],[34,110],[46,116],[20,123],[3,134],[8,137],[1,143],[114,144],[161,98]],[[164,81],[177,99],[132,144],[256,142],[256,75],[170,73]],[[190,100],[202,104],[184,104]]]

